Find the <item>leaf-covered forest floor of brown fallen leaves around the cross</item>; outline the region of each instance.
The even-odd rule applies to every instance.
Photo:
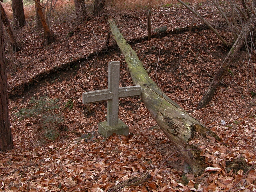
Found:
[[[107,103],[85,106],[82,93],[107,88],[110,61],[120,61],[120,86],[133,85],[113,36],[110,48],[105,47],[110,32],[107,12],[138,50],[145,69],[152,67],[149,76],[156,82],[157,75],[164,93],[227,143],[204,150],[206,167],[211,168],[202,175],[184,172],[184,159],[179,153],[172,155],[177,150],[139,97],[120,99],[119,119],[129,125],[129,136],[104,138],[97,132],[98,123],[106,119]],[[16,32],[22,51],[10,54],[6,49],[15,149],[0,152],[0,191],[113,191],[115,185],[120,185],[115,191],[256,191],[256,98],[249,94],[256,86],[246,52],[236,56],[211,102],[197,110],[228,50],[198,19],[189,33],[193,14],[179,4],[151,12],[150,41],[146,9],[109,9],[86,23],[70,16],[54,18],[56,41],[48,46],[43,46],[43,31],[32,19]],[[202,3],[198,12],[232,41],[211,3]],[[255,55],[251,61],[255,69]],[[227,170],[226,164],[236,160],[245,160],[249,167],[240,162]],[[147,172],[151,179],[139,185],[122,184]]]

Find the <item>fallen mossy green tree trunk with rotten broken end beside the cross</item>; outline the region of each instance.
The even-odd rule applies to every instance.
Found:
[[[211,143],[211,139],[208,138],[220,140],[214,132],[204,127],[161,91],[148,76],[136,52],[125,41],[115,22],[109,19],[109,24],[122,54],[125,55],[133,83],[142,87],[143,103],[172,144],[178,150],[187,150],[200,148],[201,144],[198,141],[204,141],[207,145]],[[205,158],[200,156],[200,150],[182,151],[181,153],[195,175],[204,170]]]

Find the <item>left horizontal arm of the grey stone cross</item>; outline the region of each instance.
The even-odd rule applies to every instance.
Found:
[[[106,101],[113,98],[109,89],[83,93],[83,104]]]

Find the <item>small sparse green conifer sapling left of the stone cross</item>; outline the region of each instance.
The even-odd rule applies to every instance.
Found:
[[[51,99],[49,97],[40,97],[36,99],[32,97],[29,101],[28,108],[22,108],[15,115],[19,120],[29,117],[34,118],[34,122],[39,123],[43,135],[49,140],[55,140],[58,136],[58,128],[64,121],[61,114],[56,113],[59,109],[59,99]]]

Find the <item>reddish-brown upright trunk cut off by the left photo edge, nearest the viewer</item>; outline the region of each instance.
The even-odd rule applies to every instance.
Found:
[[[0,151],[7,151],[13,148],[13,141],[8,110],[7,76],[4,63],[4,37],[1,15],[2,14],[0,14]]]

